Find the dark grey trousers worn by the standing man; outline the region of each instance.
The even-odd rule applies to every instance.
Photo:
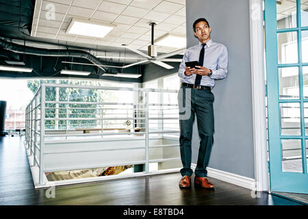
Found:
[[[196,165],[196,177],[207,177],[207,164],[214,143],[214,94],[210,90],[181,87],[178,94],[180,151],[183,168],[181,175],[192,175],[192,125],[196,115],[200,146]]]

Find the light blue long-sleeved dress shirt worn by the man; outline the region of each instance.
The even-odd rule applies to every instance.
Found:
[[[179,77],[181,77],[181,82],[194,84],[196,74],[190,76],[184,74],[186,68],[185,62],[198,61],[201,48],[202,45],[199,42],[196,46],[190,47],[185,51],[178,72]],[[203,66],[211,69],[213,74],[211,77],[207,75],[202,76],[200,85],[214,88],[215,79],[224,79],[227,76],[228,51],[227,47],[223,44],[213,42],[213,40],[207,41],[204,48]]]

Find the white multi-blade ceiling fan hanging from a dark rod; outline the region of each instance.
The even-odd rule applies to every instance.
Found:
[[[166,54],[157,56],[157,49],[156,49],[156,45],[154,44],[154,25],[156,25],[156,24],[150,23],[150,25],[152,26],[152,34],[151,34],[151,45],[149,45],[149,47],[148,47],[148,54],[142,53],[138,49],[133,49],[133,48],[127,46],[127,44],[122,44],[123,47],[125,47],[125,48],[139,54],[139,55],[142,55],[143,57],[146,57],[146,60],[142,60],[140,62],[135,62],[133,64],[129,64],[129,65],[126,65],[126,66],[123,66],[123,67],[127,68],[127,67],[130,67],[130,66],[134,66],[136,64],[142,64],[142,63],[145,63],[145,62],[153,62],[154,64],[157,64],[157,65],[162,66],[164,68],[171,69],[171,68],[174,68],[174,67],[170,66],[169,64],[166,64],[164,62],[181,62],[181,59],[168,59],[167,57],[170,57],[172,55],[177,55],[179,53],[183,53],[186,49],[185,47],[178,49],[176,51],[172,51],[170,53],[166,53]],[[162,61],[164,61],[164,62],[162,62]]]

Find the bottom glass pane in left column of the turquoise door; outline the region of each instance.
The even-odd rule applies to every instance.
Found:
[[[301,140],[281,140],[281,153],[283,172],[303,172]]]

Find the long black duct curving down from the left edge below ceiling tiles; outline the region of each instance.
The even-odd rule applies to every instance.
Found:
[[[75,49],[42,49],[36,47],[27,47],[21,44],[16,44],[13,42],[8,42],[0,39],[0,47],[8,51],[14,51],[16,53],[24,53],[29,55],[42,55],[42,56],[54,56],[54,57],[80,57],[92,62],[98,66],[104,72],[103,63],[97,57],[82,50]]]

